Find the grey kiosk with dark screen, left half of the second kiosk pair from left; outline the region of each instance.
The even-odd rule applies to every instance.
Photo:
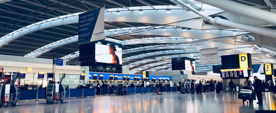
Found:
[[[48,80],[52,78],[52,80]],[[49,81],[46,89],[46,104],[54,104],[54,94],[55,94],[55,73],[47,73],[47,81]]]

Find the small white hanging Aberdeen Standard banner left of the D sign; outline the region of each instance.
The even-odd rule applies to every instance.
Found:
[[[201,49],[200,52],[200,64],[217,64],[219,63],[219,49]]]

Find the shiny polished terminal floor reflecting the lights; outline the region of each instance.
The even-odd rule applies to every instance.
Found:
[[[242,104],[236,94],[137,94],[127,96],[97,95],[96,98],[71,98],[65,103],[45,104],[40,101],[21,100],[15,107],[1,107],[1,113],[254,113],[258,109],[269,110],[266,94],[264,104]],[[275,95],[271,93],[271,105],[275,110]]]

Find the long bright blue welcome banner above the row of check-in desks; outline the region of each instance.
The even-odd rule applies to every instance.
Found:
[[[97,79],[99,79],[100,75],[103,75],[103,80],[109,80],[109,75],[118,76],[118,80],[123,80],[123,76],[129,77],[129,80],[134,80],[134,77],[140,77],[140,80],[142,80],[142,75],[134,75],[134,74],[117,74],[117,73],[96,73],[96,72],[89,72],[89,79],[93,78],[93,75],[97,74]],[[149,75],[149,79],[152,80],[152,78],[156,78],[156,81],[159,79],[170,79],[171,76],[165,76],[165,75]]]

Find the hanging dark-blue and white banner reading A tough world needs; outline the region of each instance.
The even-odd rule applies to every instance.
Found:
[[[78,44],[104,40],[104,9],[101,7],[79,14]]]

